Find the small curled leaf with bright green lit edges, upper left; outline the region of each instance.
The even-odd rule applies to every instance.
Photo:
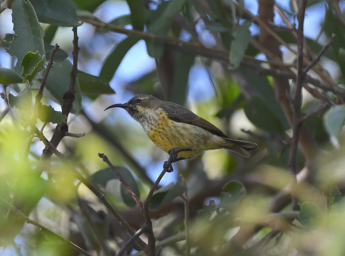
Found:
[[[44,63],[44,56],[39,55],[38,51],[35,53],[28,52],[20,64],[20,66],[23,67],[23,73],[21,73],[21,76],[24,80],[31,82],[36,74],[44,69]]]

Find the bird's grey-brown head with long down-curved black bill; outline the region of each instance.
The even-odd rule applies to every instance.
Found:
[[[151,95],[137,94],[127,103],[114,104],[107,107],[105,110],[109,108],[123,108],[134,120],[142,124],[144,119],[150,117],[155,111],[162,107],[162,102],[163,101]]]

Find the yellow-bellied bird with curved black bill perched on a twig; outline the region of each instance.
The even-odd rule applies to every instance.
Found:
[[[220,148],[249,157],[250,151],[258,148],[254,142],[229,138],[215,125],[183,106],[151,95],[138,94],[126,103],[114,104],[105,110],[110,108],[125,109],[141,124],[154,144],[174,155],[171,163],[193,159],[205,150]]]

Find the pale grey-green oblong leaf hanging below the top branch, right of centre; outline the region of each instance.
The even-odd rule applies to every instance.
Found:
[[[234,40],[231,42],[229,56],[230,69],[237,69],[244,57],[250,40],[250,24],[250,21],[244,22],[233,34]]]

